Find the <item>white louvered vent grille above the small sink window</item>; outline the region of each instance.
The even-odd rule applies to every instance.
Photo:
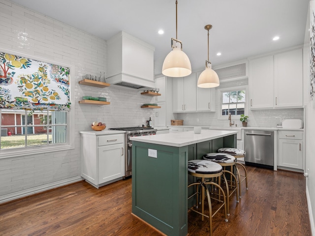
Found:
[[[227,66],[220,69],[214,69],[220,80],[234,79],[247,76],[247,63]]]

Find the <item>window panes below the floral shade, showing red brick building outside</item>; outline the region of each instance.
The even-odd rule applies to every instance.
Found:
[[[66,112],[1,110],[0,149],[67,142]]]

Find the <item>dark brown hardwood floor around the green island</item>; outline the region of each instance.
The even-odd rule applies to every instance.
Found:
[[[219,212],[214,236],[311,236],[302,174],[247,167],[249,190]],[[160,236],[131,214],[131,178],[99,189],[81,181],[0,205],[0,236]],[[189,213],[189,236],[208,221]]]

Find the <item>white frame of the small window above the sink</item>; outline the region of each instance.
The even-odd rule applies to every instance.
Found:
[[[240,90],[245,90],[245,106],[244,106],[244,114],[248,114],[248,86],[247,85],[243,85],[243,86],[236,86],[236,87],[227,87],[227,88],[220,88],[218,89],[218,119],[227,119],[228,116],[227,115],[222,115],[222,94],[223,92],[231,92],[231,91],[240,91]],[[240,115],[231,115],[231,119],[232,120],[239,120],[240,119]]]

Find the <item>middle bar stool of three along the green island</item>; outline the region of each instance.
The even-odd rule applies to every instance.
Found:
[[[239,186],[236,176],[232,173],[233,166],[235,166],[235,157],[226,153],[207,153],[203,155],[204,160],[212,161],[220,164],[223,169],[223,176],[225,173],[230,175],[230,179],[226,180],[225,177],[225,187],[226,187],[226,203],[227,203],[227,215],[230,215],[229,212],[229,197],[236,191],[236,202],[239,203]],[[226,167],[229,166],[231,171],[226,170]],[[234,181],[233,181],[234,180]],[[234,183],[234,184],[233,184]],[[220,182],[219,182],[220,184]],[[230,188],[231,187],[231,191]]]

